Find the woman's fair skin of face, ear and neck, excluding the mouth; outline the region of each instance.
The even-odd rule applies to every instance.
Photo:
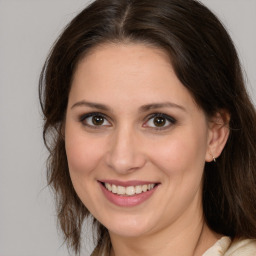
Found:
[[[145,107],[156,103],[165,105]],[[84,118],[93,112],[102,124]],[[164,117],[156,127],[155,113],[171,121]],[[201,197],[205,161],[221,153],[228,137],[222,121],[220,114],[205,116],[160,49],[105,44],[80,61],[67,107],[66,152],[78,196],[109,230],[111,255],[202,255],[217,241]],[[106,179],[159,186],[142,204],[120,207],[104,196],[98,181]]]

